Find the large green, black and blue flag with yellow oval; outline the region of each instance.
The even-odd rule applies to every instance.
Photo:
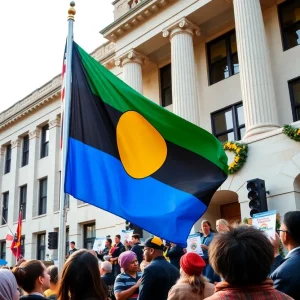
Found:
[[[213,135],[73,44],[66,193],[184,245],[227,170]]]

